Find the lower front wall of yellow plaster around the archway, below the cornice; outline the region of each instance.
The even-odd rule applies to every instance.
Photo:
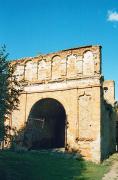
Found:
[[[19,111],[13,113],[12,125],[25,126],[32,106],[44,98],[58,100],[65,108],[70,151],[78,150],[86,159],[100,161],[100,88],[33,92],[21,95]],[[23,100],[24,98],[24,100]],[[96,101],[96,106],[94,105]]]

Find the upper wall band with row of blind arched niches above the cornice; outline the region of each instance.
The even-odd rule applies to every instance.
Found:
[[[100,47],[90,46],[14,61],[18,80],[53,82],[95,76],[101,72]]]

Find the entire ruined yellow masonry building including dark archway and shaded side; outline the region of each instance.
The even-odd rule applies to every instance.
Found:
[[[104,81],[100,46],[12,63],[23,92],[10,124],[22,129],[23,146],[64,147],[95,162],[115,151],[114,81]]]

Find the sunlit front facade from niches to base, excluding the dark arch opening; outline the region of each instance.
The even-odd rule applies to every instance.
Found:
[[[25,58],[13,64],[16,65],[17,79],[24,82],[19,110],[12,114],[12,126],[17,129],[25,126],[37,101],[56,99],[63,105],[67,116],[65,145],[68,150],[77,150],[85,159],[100,162],[104,151],[101,132],[105,131],[101,126],[106,124],[105,118],[101,118],[103,114],[105,116],[101,108],[101,48],[69,49]],[[112,90],[112,85],[110,87]],[[104,136],[103,139],[107,141],[108,138]]]

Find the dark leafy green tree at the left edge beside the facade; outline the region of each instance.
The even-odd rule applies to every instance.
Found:
[[[3,46],[0,49],[0,141],[4,140],[9,126],[6,119],[19,104],[20,86],[14,76],[15,67],[7,60],[8,53]]]

